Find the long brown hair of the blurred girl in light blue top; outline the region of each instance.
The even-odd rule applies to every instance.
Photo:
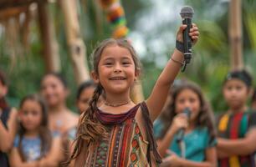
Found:
[[[41,99],[38,95],[36,94],[29,94],[26,97],[24,97],[19,105],[19,108],[21,109],[23,107],[23,104],[28,101],[32,100],[34,102],[37,102],[41,106],[41,111],[42,111],[42,120],[41,124],[39,127],[39,138],[41,139],[41,158],[43,158],[49,151],[52,143],[52,135],[51,132],[48,128],[48,114],[47,114],[47,109],[44,104],[43,99]],[[26,157],[23,154],[23,148],[22,148],[22,140],[23,140],[23,135],[26,133],[26,129],[23,127],[22,123],[19,123],[19,129],[18,129],[18,136],[19,136],[19,141],[18,141],[18,152],[21,154],[21,157],[23,161],[26,161]]]

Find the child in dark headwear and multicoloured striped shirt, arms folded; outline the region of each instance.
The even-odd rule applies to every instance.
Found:
[[[228,111],[218,118],[219,166],[255,166],[255,117],[249,117],[247,99],[251,76],[244,70],[228,73],[223,83],[223,96]]]

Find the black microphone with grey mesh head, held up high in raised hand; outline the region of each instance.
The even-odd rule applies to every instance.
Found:
[[[192,58],[192,39],[189,37],[188,33],[190,28],[192,28],[192,18],[194,10],[192,7],[185,6],[181,10],[182,24],[186,24],[187,28],[183,31],[183,47],[184,47],[184,58],[185,63],[190,63]]]

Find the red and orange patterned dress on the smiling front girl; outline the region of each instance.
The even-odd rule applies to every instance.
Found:
[[[90,149],[84,166],[151,166],[151,159],[148,156],[150,154],[150,143],[143,139],[141,129],[135,119],[136,112],[140,106],[140,104],[137,104],[125,114],[107,114],[100,111],[100,109],[95,112],[100,122],[105,124],[109,136]],[[141,110],[145,112],[143,111],[144,109],[141,108]],[[155,148],[153,153],[156,154],[156,152]]]

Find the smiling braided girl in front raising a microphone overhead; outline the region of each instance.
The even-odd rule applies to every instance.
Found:
[[[177,33],[179,42],[182,42],[184,28],[186,25]],[[190,36],[194,42],[198,34],[193,25]],[[107,39],[95,49],[93,56],[92,76],[97,87],[90,107],[79,121],[71,156],[74,166],[151,166],[160,163],[151,123],[160,113],[170,84],[182,66],[182,52],[174,50],[150,97],[141,104],[134,104],[130,99],[131,86],[140,73],[139,60],[131,43],[124,39]],[[105,102],[98,108],[97,101],[103,92]],[[154,157],[151,157],[151,151]]]

